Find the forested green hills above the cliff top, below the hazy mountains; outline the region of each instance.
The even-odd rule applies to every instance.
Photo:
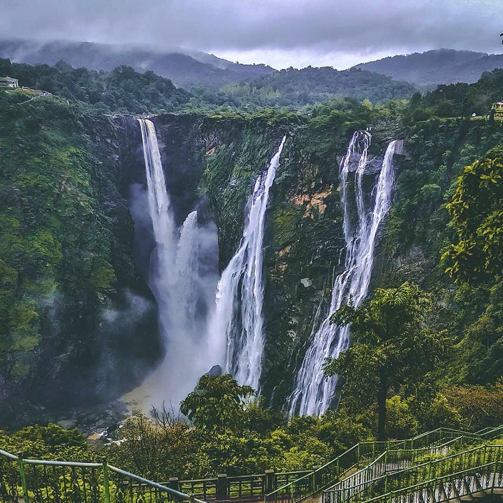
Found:
[[[152,71],[139,73],[124,65],[97,71],[73,68],[63,61],[54,66],[32,66],[0,59],[0,75],[18,78],[20,86],[88,103],[103,113],[210,112],[228,107],[245,111],[266,107],[299,110],[340,97],[377,102],[408,98],[415,91],[406,82],[377,73],[328,67],[291,68],[244,82],[226,83],[218,89],[199,85],[191,88],[190,93]]]

